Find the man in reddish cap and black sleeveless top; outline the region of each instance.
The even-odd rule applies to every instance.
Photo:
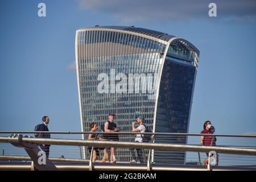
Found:
[[[105,122],[104,130],[105,132],[118,132],[117,125],[114,123],[114,113],[109,113],[109,120]],[[106,135],[106,139],[109,141],[118,141],[118,134],[108,134]],[[117,160],[115,159],[115,151],[117,148],[111,147],[110,148],[110,163],[116,163]]]

